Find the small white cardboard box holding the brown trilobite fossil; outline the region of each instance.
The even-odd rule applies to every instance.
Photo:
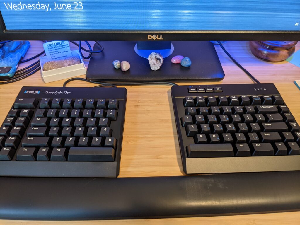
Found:
[[[75,77],[75,76],[85,75],[86,68],[85,68],[85,64],[83,62],[83,59],[82,59],[79,51],[75,50],[75,51],[71,51],[71,52],[72,52],[72,56],[78,56],[80,58],[80,61],[81,61],[80,64],[66,66],[66,67],[62,67],[62,68],[58,68],[58,69],[54,69],[54,70],[44,71],[43,65],[45,62],[47,62],[49,60],[48,60],[47,56],[43,56],[40,58],[42,80],[45,83],[62,80],[62,79],[66,79],[66,78],[71,78],[71,77]]]

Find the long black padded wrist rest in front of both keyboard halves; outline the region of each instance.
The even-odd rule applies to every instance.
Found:
[[[0,218],[91,220],[300,209],[300,171],[140,178],[0,178]]]

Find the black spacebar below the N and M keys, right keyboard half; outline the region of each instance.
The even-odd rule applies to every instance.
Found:
[[[191,144],[187,146],[189,158],[232,157],[231,144]]]

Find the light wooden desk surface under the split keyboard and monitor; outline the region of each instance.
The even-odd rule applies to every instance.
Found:
[[[32,41],[26,57],[42,51],[42,42]],[[72,45],[72,49],[76,46]],[[270,63],[254,57],[247,41],[232,41],[225,45],[227,51],[261,83],[274,83],[296,120],[300,122],[300,90],[293,83],[300,79],[300,68],[289,62]],[[253,83],[222,51],[215,46],[219,55],[225,78],[218,82],[181,82],[190,84],[234,84]],[[300,44],[296,50],[300,49]],[[193,62],[196,63],[196,62]],[[88,61],[85,62],[86,66]],[[20,67],[29,65],[22,64]],[[82,76],[84,77],[84,76]],[[29,78],[0,86],[0,121],[4,120],[22,86],[59,86],[64,80],[45,84],[41,73]],[[86,82],[72,82],[68,86],[92,87]],[[180,176],[184,175],[173,113],[170,86],[139,85],[124,86],[128,90],[125,127],[119,177],[138,176]],[[235,220],[235,222],[233,221]],[[85,221],[84,224],[299,224],[300,212],[255,214],[222,217],[196,217],[151,220],[105,220]],[[49,221],[0,220],[0,224],[52,224]],[[55,224],[83,224],[83,221],[61,221]]]

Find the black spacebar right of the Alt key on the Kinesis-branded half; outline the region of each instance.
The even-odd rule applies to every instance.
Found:
[[[113,148],[71,147],[68,161],[115,161]]]

